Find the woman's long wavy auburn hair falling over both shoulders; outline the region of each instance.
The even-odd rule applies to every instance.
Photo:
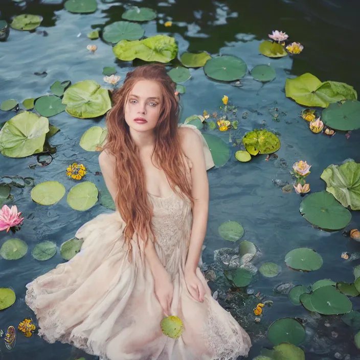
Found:
[[[142,65],[126,74],[123,85],[112,94],[113,107],[106,117],[107,138],[104,149],[115,156],[115,177],[117,185],[116,208],[125,221],[125,241],[129,255],[132,254],[130,243],[134,233],[145,245],[150,239],[156,242],[151,217],[152,206],[148,199],[145,173],[140,161],[139,148],[134,144],[129,126],[125,121],[127,97],[139,80],[158,82],[163,93],[163,103],[159,121],[154,128],[155,145],[151,161],[155,167],[162,169],[173,191],[175,186],[180,196],[188,198],[191,204],[191,186],[187,180],[184,156],[178,135],[179,106],[175,97],[175,83],[161,64]],[[138,246],[140,244],[138,242]]]

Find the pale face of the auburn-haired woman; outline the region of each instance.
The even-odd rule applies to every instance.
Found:
[[[151,130],[159,121],[162,104],[163,94],[158,82],[139,80],[127,97],[125,121],[135,131]]]

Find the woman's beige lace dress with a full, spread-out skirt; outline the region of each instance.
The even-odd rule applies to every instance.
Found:
[[[214,166],[202,138],[207,169]],[[185,155],[184,155],[185,156]],[[192,164],[186,158],[191,181]],[[178,188],[176,189],[178,191]],[[168,197],[148,194],[153,205],[156,251],[174,284],[171,315],[182,319],[178,339],[162,333],[162,307],[143,254],[133,242],[133,260],[124,247],[125,226],[118,212],[101,214],[76,233],[81,251],[70,261],[27,284],[26,303],[35,312],[39,332],[49,343],[70,343],[105,360],[235,360],[247,355],[249,335],[206,289],[204,302],[187,290],[184,266],[190,240],[191,203],[176,192]],[[133,240],[132,240],[133,241]]]

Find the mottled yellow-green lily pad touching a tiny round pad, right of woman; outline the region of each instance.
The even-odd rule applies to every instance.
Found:
[[[271,154],[280,149],[280,140],[271,131],[253,130],[247,132],[242,138],[246,151],[251,155]]]

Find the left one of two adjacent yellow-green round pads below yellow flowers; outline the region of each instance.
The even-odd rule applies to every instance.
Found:
[[[39,205],[54,205],[65,195],[65,187],[57,181],[37,184],[31,190],[31,198]]]

